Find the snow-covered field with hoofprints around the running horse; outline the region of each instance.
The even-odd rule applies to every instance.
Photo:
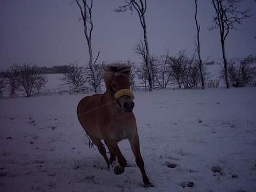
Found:
[[[76,117],[84,95],[0,100],[0,191],[256,191],[256,89],[135,92],[146,171],[108,170]]]

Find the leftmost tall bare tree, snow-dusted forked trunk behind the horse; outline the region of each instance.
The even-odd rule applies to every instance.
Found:
[[[93,85],[94,85],[94,91],[95,93],[100,92],[98,80],[97,80],[97,74],[96,74],[96,69],[95,69],[95,63],[98,59],[98,55],[100,54],[100,51],[98,51],[98,55],[92,63],[92,47],[91,47],[91,36],[92,36],[92,30],[94,28],[94,24],[92,23],[92,0],[89,2],[86,0],[83,0],[82,3],[79,0],[75,0],[77,2],[77,5],[80,9],[80,14],[83,19],[83,24],[84,24],[84,34],[86,38],[86,42],[88,44],[88,50],[89,50],[89,66],[91,69],[92,77],[93,77]]]

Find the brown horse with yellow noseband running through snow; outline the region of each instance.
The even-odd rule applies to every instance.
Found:
[[[114,168],[115,174],[123,173],[127,165],[118,142],[129,139],[145,187],[154,187],[149,182],[144,168],[136,119],[132,113],[134,96],[130,90],[131,67],[109,65],[104,68],[103,75],[106,92],[84,97],[77,106],[78,120],[91,141],[97,146],[108,167],[117,157],[119,166]],[[109,149],[110,159],[101,139]]]

